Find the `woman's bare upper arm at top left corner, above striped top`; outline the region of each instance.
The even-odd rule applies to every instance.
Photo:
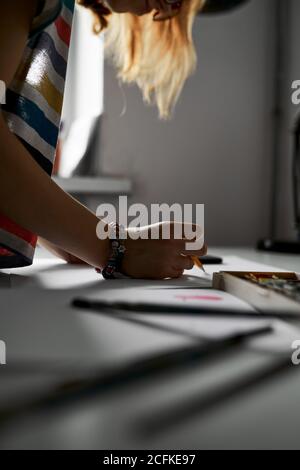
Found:
[[[0,2],[0,80],[9,83],[19,65],[39,0]]]

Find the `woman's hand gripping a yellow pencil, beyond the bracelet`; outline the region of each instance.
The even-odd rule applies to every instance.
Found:
[[[185,224],[186,226],[187,224]],[[193,268],[190,256],[203,256],[206,254],[206,246],[195,245],[195,250],[186,250],[186,243],[196,241],[184,238],[183,224],[164,222],[138,229],[139,238],[133,240],[137,229],[128,229],[128,238],[125,240],[126,252],[122,262],[122,272],[137,279],[165,279],[182,276],[185,269]],[[192,226],[195,232],[197,226]],[[150,230],[156,233],[157,239],[150,238]],[[162,239],[163,230],[170,230],[169,239]],[[178,230],[179,229],[179,230]],[[175,239],[174,234],[182,232],[180,239]],[[201,229],[198,226],[200,233]],[[143,239],[148,236],[148,239]]]

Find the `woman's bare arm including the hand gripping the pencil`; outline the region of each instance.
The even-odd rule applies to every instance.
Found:
[[[22,57],[36,0],[0,5],[0,80],[9,84]],[[88,264],[104,267],[110,244],[97,238],[99,219],[51,180],[9,131],[1,114],[0,169],[0,212]],[[173,236],[170,240],[129,238],[125,244],[122,269],[136,278],[178,277],[192,268],[189,255],[205,252],[204,248],[186,253],[184,238]]]

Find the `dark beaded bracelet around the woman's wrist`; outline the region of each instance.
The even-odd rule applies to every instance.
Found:
[[[111,253],[108,262],[103,269],[96,268],[96,271],[104,277],[104,279],[116,279],[120,277],[121,265],[126,251],[124,246],[124,227],[120,227],[117,223],[108,224],[111,240]],[[121,275],[122,276],[122,275]]]

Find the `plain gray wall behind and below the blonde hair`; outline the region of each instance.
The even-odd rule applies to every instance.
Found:
[[[130,176],[137,202],[205,203],[209,244],[254,244],[268,232],[273,6],[252,0],[197,19],[197,72],[171,122],[105,67],[103,171]]]

